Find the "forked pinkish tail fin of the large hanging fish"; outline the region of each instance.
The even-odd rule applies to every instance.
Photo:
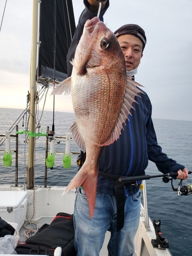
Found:
[[[84,164],[63,192],[66,194],[69,190],[82,186],[88,200],[90,219],[93,217],[95,209],[97,180],[98,172],[90,171]]]

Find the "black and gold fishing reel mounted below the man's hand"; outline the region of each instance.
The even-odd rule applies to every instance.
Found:
[[[183,180],[181,180],[178,184],[178,187],[174,187],[173,185],[173,179],[170,177],[163,177],[163,182],[164,183],[168,183],[169,181],[171,181],[172,184],[172,189],[174,191],[177,191],[178,196],[188,196],[190,194],[192,194],[192,184],[188,184],[188,185],[182,185]]]

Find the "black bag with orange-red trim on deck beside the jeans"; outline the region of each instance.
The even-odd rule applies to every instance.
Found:
[[[73,215],[59,212],[50,225],[43,225],[38,232],[18,245],[17,254],[54,255],[56,247],[62,248],[62,256],[76,256],[74,246]]]

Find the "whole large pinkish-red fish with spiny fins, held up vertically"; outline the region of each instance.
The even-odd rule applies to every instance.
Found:
[[[72,138],[86,151],[86,161],[63,194],[82,186],[92,218],[103,146],[119,138],[132,103],[136,102],[134,98],[141,91],[139,84],[126,75],[117,38],[98,17],[84,25],[72,65],[71,77],[62,81],[53,94],[72,93],[76,116]]]

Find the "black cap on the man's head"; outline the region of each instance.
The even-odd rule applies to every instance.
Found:
[[[131,35],[135,35],[136,37],[138,37],[142,43],[143,43],[143,49],[146,45],[146,36],[145,36],[145,32],[144,30],[139,27],[136,24],[126,24],[123,25],[122,27],[120,27],[119,29],[117,29],[114,34],[116,35],[116,37],[120,36],[120,35],[125,35],[125,34],[131,34]]]

